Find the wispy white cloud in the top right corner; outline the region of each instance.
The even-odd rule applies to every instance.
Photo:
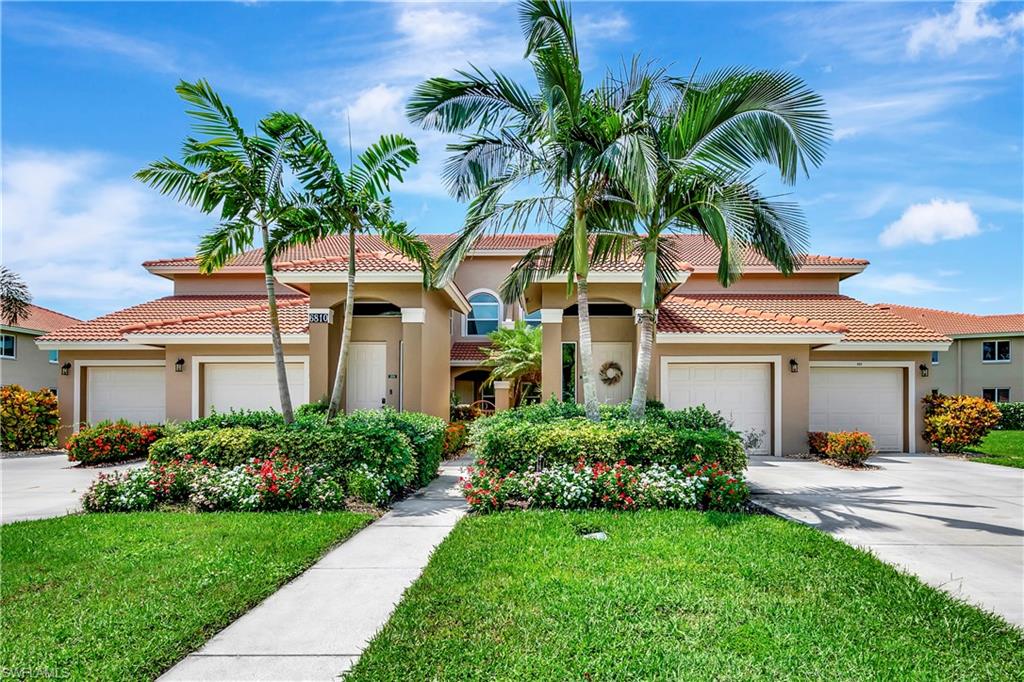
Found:
[[[932,49],[940,56],[949,56],[968,45],[1013,39],[1024,30],[1024,11],[997,18],[988,13],[988,0],[959,0],[948,13],[914,24],[908,29],[907,54],[915,57]]]

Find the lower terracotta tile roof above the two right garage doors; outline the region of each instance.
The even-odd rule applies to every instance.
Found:
[[[744,310],[724,311],[729,305]],[[948,341],[921,325],[840,294],[689,293],[670,296],[662,304],[662,310],[666,309],[668,315],[658,313],[658,331],[775,334],[780,332],[772,330],[781,329],[776,326],[796,325],[803,334],[808,327],[836,333],[845,329],[842,339],[851,343]]]

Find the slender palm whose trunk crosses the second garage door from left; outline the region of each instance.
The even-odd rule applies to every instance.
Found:
[[[204,213],[219,212],[219,224],[203,237],[197,250],[202,272],[213,272],[250,249],[259,230],[281,412],[285,422],[291,423],[292,398],[274,292],[273,259],[278,252],[271,241],[271,230],[294,210],[293,198],[286,194],[282,180],[286,131],[271,131],[264,120],[255,134],[247,134],[230,106],[204,80],[180,81],[175,91],[191,105],[186,113],[194,120],[193,129],[204,139],[186,137],[180,162],[165,157],[135,177]]]

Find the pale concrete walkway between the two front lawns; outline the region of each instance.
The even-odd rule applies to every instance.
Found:
[[[469,458],[332,550],[162,680],[331,680],[347,671],[467,507]]]

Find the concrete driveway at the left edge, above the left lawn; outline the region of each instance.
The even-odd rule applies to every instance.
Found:
[[[139,464],[84,469],[67,455],[0,459],[0,522],[62,516],[79,511],[79,500],[101,471],[119,471]]]

